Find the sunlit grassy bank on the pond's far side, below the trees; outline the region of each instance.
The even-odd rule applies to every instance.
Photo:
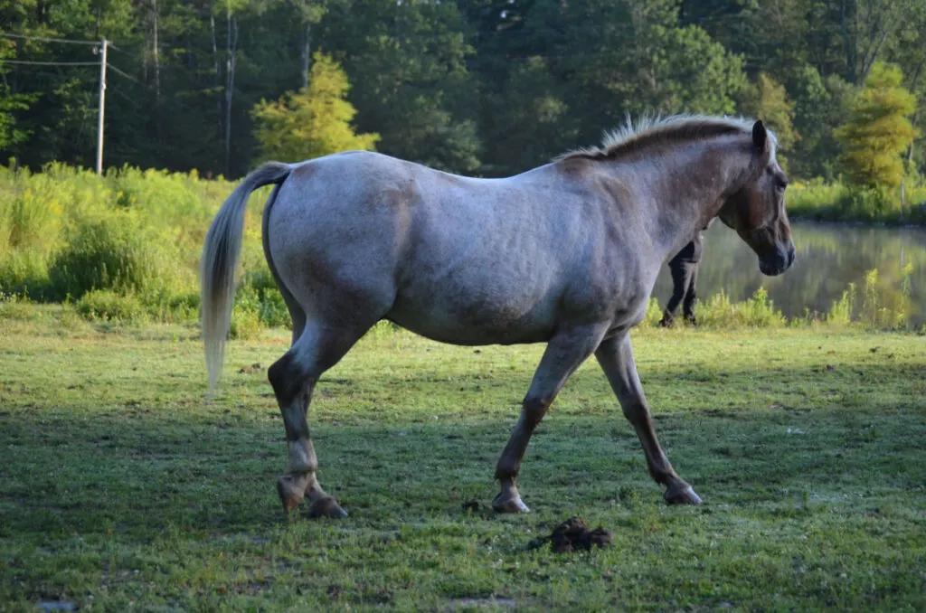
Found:
[[[839,182],[795,181],[788,189],[788,214],[793,219],[814,221],[926,225],[926,184],[907,181],[905,192],[901,198],[899,188],[861,189]]]

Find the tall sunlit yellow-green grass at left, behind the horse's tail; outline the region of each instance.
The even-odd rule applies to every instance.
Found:
[[[203,239],[232,188],[195,172],[124,167],[98,177],[60,164],[34,174],[0,168],[0,293],[41,301],[93,294],[80,307],[92,319],[121,313],[140,320],[139,306],[144,319],[195,319]],[[259,191],[248,211],[248,253],[260,252],[267,194]],[[280,325],[282,300],[267,290],[262,256],[244,264],[242,291],[255,296],[245,307],[263,314],[264,323]]]

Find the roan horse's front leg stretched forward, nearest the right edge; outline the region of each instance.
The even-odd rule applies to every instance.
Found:
[[[692,486],[684,482],[675,474],[669,458],[663,453],[662,447],[653,430],[653,421],[649,417],[649,406],[643,393],[643,385],[637,374],[636,363],[633,361],[633,347],[629,332],[622,332],[617,336],[604,341],[594,352],[594,357],[605,371],[607,381],[617,394],[620,407],[624,415],[632,423],[643,452],[646,456],[646,466],[649,474],[657,483],[666,486],[663,494],[670,505],[700,505],[701,498],[694,494]]]

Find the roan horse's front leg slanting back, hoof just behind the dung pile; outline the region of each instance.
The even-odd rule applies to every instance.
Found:
[[[569,375],[592,355],[606,328],[606,325],[566,328],[557,332],[546,345],[544,357],[533,375],[531,388],[524,397],[518,425],[511,433],[495,468],[495,479],[501,483],[502,491],[495,496],[492,507],[499,513],[530,511],[521,501],[518,491],[521,458],[524,457],[534,429],[544,419],[546,409],[553,404]]]

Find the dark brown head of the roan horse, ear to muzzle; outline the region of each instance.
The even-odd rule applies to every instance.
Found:
[[[758,256],[762,274],[779,275],[795,261],[791,224],[784,210],[788,179],[775,161],[775,144],[761,121],[752,131],[752,162],[745,184],[720,208],[720,220]]]

